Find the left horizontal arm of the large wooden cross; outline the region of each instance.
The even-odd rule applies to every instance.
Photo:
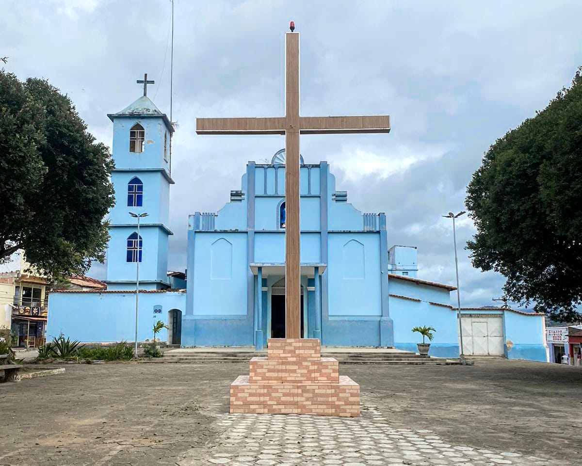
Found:
[[[196,134],[285,134],[285,118],[197,118]]]

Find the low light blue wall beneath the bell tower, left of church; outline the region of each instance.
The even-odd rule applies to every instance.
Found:
[[[122,292],[63,292],[52,291],[48,298],[49,309],[47,339],[63,333],[80,342],[135,341],[136,293]],[[161,313],[154,307],[161,306]],[[184,314],[185,291],[162,293],[140,291],[138,340],[153,338],[151,329],[158,320],[168,324],[168,311],[178,309]],[[167,340],[166,330],[158,333],[162,342]]]

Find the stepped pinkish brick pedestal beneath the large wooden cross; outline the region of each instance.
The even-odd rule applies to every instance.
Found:
[[[230,385],[230,412],[360,415],[360,386],[320,356],[320,340],[271,338],[267,355]]]

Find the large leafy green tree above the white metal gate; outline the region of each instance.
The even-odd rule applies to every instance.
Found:
[[[582,67],[572,86],[498,139],[467,187],[471,260],[557,321],[582,303]]]

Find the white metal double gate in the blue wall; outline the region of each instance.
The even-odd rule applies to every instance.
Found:
[[[499,356],[505,353],[502,314],[463,314],[461,328],[465,354]]]

